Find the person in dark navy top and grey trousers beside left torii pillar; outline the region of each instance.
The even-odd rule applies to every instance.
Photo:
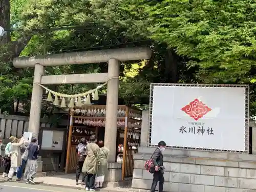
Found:
[[[37,138],[33,137],[28,146],[28,160],[25,168],[24,179],[27,184],[35,184],[34,178],[37,172],[37,158],[39,154],[39,145],[36,144]]]

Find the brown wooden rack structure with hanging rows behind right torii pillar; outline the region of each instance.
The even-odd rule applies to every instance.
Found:
[[[76,170],[76,146],[82,137],[89,140],[95,134],[99,140],[104,140],[100,135],[104,132],[105,117],[105,105],[86,105],[70,111],[66,173]],[[141,111],[118,105],[115,156],[117,162],[122,163],[122,180],[133,176],[133,154],[138,153],[140,145],[141,120]]]

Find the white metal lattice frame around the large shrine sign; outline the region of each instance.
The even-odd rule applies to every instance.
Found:
[[[176,148],[181,150],[200,150],[200,151],[216,151],[216,152],[233,152],[233,153],[249,153],[249,86],[245,84],[182,84],[182,83],[151,83],[150,85],[150,114],[148,123],[148,147],[155,147],[151,144],[152,133],[152,112],[153,112],[153,94],[154,87],[166,86],[166,87],[199,87],[199,88],[245,88],[245,143],[244,151],[234,150],[219,150],[215,148],[193,148],[193,147],[181,147],[181,146],[166,146],[168,148]]]

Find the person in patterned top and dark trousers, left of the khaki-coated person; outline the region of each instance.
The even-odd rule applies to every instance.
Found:
[[[82,166],[83,162],[86,159],[87,151],[86,151],[86,138],[82,138],[81,142],[76,147],[76,153],[78,156],[77,163],[76,163],[76,185],[78,185],[78,180],[80,177],[80,174],[82,174],[82,182],[81,185],[84,185],[84,181],[86,179],[86,174],[82,173]]]

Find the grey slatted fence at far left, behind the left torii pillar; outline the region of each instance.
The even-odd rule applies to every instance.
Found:
[[[41,127],[51,127],[48,119],[41,119]],[[9,139],[10,136],[18,137],[28,131],[29,117],[17,115],[0,114],[0,130],[2,130],[2,138]]]

